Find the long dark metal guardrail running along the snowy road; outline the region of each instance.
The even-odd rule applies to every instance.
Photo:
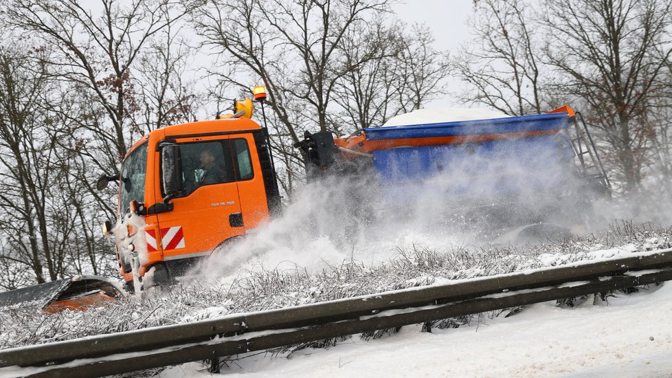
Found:
[[[0,375],[100,377],[672,280],[672,249],[0,351]]]

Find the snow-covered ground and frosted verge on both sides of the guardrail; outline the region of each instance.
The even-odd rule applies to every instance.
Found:
[[[416,234],[412,240],[420,238]],[[312,266],[315,262],[311,259],[298,258],[307,263],[306,267],[311,267],[307,270],[313,274],[254,273],[251,268],[256,265],[278,263],[271,256],[278,247],[293,247],[291,243],[280,243],[267,252],[256,251],[256,263],[240,265],[250,270],[240,271],[235,282],[230,280],[236,275],[226,269],[221,271],[223,283],[232,284],[224,285],[223,291],[186,287],[165,296],[146,298],[144,303],[126,302],[48,317],[28,313],[25,309],[6,309],[0,314],[3,315],[0,316],[0,340],[5,345],[39,344],[201,320],[232,312],[346,298],[359,295],[362,290],[375,293],[432,284],[437,280],[444,282],[578,260],[628,256],[636,251],[672,247],[672,228],[638,228],[623,223],[623,227],[616,224],[596,238],[532,249],[502,249],[496,253],[490,249],[450,250],[440,247],[438,239],[431,243],[427,239],[423,241],[431,248],[408,252],[396,265],[388,261],[385,267],[359,270],[341,266],[333,274],[326,274],[320,273],[317,265]],[[404,245],[406,242],[399,239],[388,243]],[[415,242],[412,244],[418,246]],[[325,248],[322,253],[327,253],[326,245],[320,245]],[[333,257],[343,253],[335,247],[334,251]],[[301,257],[311,250],[295,252]],[[383,252],[379,251],[384,255]],[[403,249],[398,252],[401,254]],[[466,257],[469,258],[463,260]],[[243,279],[245,274],[251,276]],[[668,320],[671,307],[672,282],[669,282],[638,293],[616,294],[598,304],[588,300],[579,307],[561,308],[555,302],[546,302],[525,307],[509,318],[476,317],[457,329],[423,333],[420,325],[412,325],[368,342],[355,335],[327,349],[249,353],[236,356],[221,373],[227,377],[669,377],[672,376],[672,325]],[[32,336],[24,340],[26,334]],[[200,363],[183,364],[164,370],[159,377],[208,377],[210,373],[206,369],[207,366]]]

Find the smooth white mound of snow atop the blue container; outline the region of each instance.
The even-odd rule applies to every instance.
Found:
[[[383,127],[507,118],[501,111],[473,108],[418,109],[390,118]]]

